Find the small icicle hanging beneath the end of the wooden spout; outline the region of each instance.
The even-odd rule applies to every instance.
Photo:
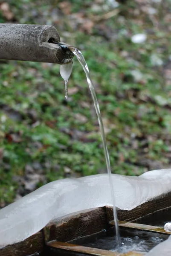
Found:
[[[65,81],[65,98],[68,98],[68,79],[72,73],[72,62],[60,66],[61,77]]]

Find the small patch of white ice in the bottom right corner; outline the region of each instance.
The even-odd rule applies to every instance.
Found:
[[[157,244],[145,256],[171,256],[171,236],[164,242]]]

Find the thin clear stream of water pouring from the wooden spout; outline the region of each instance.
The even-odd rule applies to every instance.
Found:
[[[86,74],[87,83],[89,85],[91,95],[92,95],[92,98],[93,98],[93,102],[94,102],[94,106],[95,106],[95,109],[96,109],[96,113],[97,113],[97,116],[98,116],[99,127],[100,127],[100,131],[101,131],[101,137],[102,137],[103,148],[104,148],[104,155],[105,155],[106,164],[107,164],[107,172],[108,172],[108,175],[109,175],[111,195],[112,195],[112,200],[113,200],[113,216],[114,216],[114,221],[115,221],[116,237],[117,237],[117,240],[118,240],[118,244],[120,246],[121,242],[120,242],[119,226],[118,226],[116,206],[115,206],[116,205],[115,204],[115,196],[114,196],[112,177],[111,177],[109,152],[107,150],[106,138],[105,138],[105,134],[104,134],[104,126],[103,126],[103,121],[102,121],[102,118],[101,118],[99,103],[97,101],[96,92],[95,92],[93,83],[90,79],[90,72],[89,72],[87,63],[84,59],[84,56],[82,55],[81,51],[79,51],[78,49],[74,49],[73,54],[77,57],[78,61],[80,62],[81,66],[83,67],[83,70]]]

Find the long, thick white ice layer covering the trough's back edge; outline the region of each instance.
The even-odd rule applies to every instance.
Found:
[[[171,191],[171,169],[139,177],[112,175],[116,207],[133,209]],[[56,180],[0,210],[0,247],[32,236],[52,219],[72,212],[112,205],[107,174]]]

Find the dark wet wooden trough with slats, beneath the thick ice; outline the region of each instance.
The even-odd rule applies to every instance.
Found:
[[[117,209],[120,232],[143,230],[157,237],[168,238],[162,221],[171,216],[171,192],[154,198],[130,211]],[[23,227],[24,228],[24,227]],[[0,256],[142,256],[145,252],[117,253],[110,250],[84,246],[84,240],[105,236],[113,231],[112,207],[99,207],[76,212],[50,222],[43,230],[28,239],[0,249]],[[106,231],[106,232],[104,232]]]

